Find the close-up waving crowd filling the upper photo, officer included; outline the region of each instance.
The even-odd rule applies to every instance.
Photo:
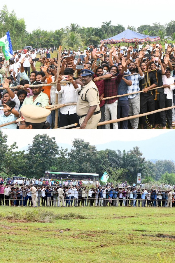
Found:
[[[64,49],[61,53],[58,79],[58,58],[45,56],[50,53],[50,49],[28,50],[26,54],[18,51],[10,61],[6,61],[2,56],[0,125],[15,122],[0,128],[55,127],[55,110],[44,108],[54,106],[55,96],[58,94],[58,104],[69,104],[58,110],[58,127],[77,123],[75,127],[80,126],[80,129],[138,129],[140,123],[142,129],[166,129],[166,124],[169,129],[173,129],[174,108],[147,117],[145,115],[133,118],[130,122],[114,122],[113,127],[109,123],[97,126],[98,122],[175,105],[174,44],[169,45],[165,41],[165,52],[158,42],[134,44],[128,48],[122,47],[123,49],[111,45],[109,49],[101,42],[99,46],[89,45],[84,51],[81,51],[80,47],[77,51]],[[38,59],[37,53],[40,54]],[[41,63],[40,71],[35,68],[36,60]],[[56,82],[56,79],[55,85],[41,86]],[[63,83],[65,80],[67,82]],[[13,86],[17,88],[13,89]],[[20,89],[21,86],[24,86],[24,89]],[[156,87],[160,88],[154,89]],[[142,92],[138,93],[139,91]],[[117,95],[119,97],[113,97]],[[38,108],[42,109],[37,114]]]

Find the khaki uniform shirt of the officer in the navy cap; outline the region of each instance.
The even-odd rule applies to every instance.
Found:
[[[83,86],[76,105],[76,113],[78,116],[83,116],[88,113],[90,106],[96,106],[96,111],[99,107],[99,92],[95,83],[91,80],[87,85]]]

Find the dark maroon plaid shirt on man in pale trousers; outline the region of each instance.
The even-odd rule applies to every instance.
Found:
[[[117,77],[113,79],[106,79],[104,82],[104,97],[112,97],[117,95],[118,83],[121,81],[124,74],[118,74]],[[106,100],[107,104],[111,104],[118,100],[118,98],[112,98]]]

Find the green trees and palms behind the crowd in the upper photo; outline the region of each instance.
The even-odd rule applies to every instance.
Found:
[[[141,25],[139,27],[128,26],[127,29],[132,31],[159,36],[161,40],[164,36],[171,37],[175,41],[175,21],[160,25],[160,23],[152,23],[152,25]],[[101,39],[106,39],[117,35],[125,30],[121,24],[112,25],[111,20],[102,22],[101,27],[81,27],[76,23],[71,23],[65,28],[55,31],[41,30],[38,27],[32,33],[27,32],[24,18],[18,19],[15,11],[11,13],[4,5],[0,11],[0,36],[7,31],[10,32],[10,38],[13,50],[22,49],[24,46],[39,47],[58,47],[60,45],[65,48],[77,49],[78,46],[84,48],[88,44],[99,44]]]

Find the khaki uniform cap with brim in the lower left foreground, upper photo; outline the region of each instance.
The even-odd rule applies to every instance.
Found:
[[[41,123],[46,121],[46,117],[51,114],[51,110],[34,105],[24,105],[21,108],[22,116],[16,122]]]

